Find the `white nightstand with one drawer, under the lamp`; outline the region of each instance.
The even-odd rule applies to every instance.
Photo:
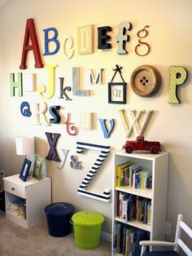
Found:
[[[25,227],[33,227],[46,219],[44,208],[51,203],[51,179],[43,177],[40,181],[34,178],[26,182],[19,174],[6,177],[4,180],[6,199],[6,218]],[[11,210],[11,202],[24,201],[25,218],[18,211]]]

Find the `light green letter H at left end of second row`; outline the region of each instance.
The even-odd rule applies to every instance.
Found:
[[[17,82],[15,82],[15,74],[10,73],[10,94],[15,96],[15,88],[17,88],[18,96],[23,96],[22,73],[17,73]]]

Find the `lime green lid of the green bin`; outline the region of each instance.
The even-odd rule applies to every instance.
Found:
[[[98,226],[104,222],[104,217],[92,210],[82,210],[72,215],[72,222],[80,226]]]

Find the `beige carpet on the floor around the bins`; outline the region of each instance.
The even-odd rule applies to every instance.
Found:
[[[96,249],[79,249],[74,236],[50,236],[47,224],[25,229],[7,220],[0,210],[1,256],[111,256],[111,244],[101,241]]]

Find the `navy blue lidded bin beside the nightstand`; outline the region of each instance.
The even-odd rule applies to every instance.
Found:
[[[70,219],[74,210],[73,205],[65,202],[46,206],[46,220],[50,236],[68,236],[72,232]]]

